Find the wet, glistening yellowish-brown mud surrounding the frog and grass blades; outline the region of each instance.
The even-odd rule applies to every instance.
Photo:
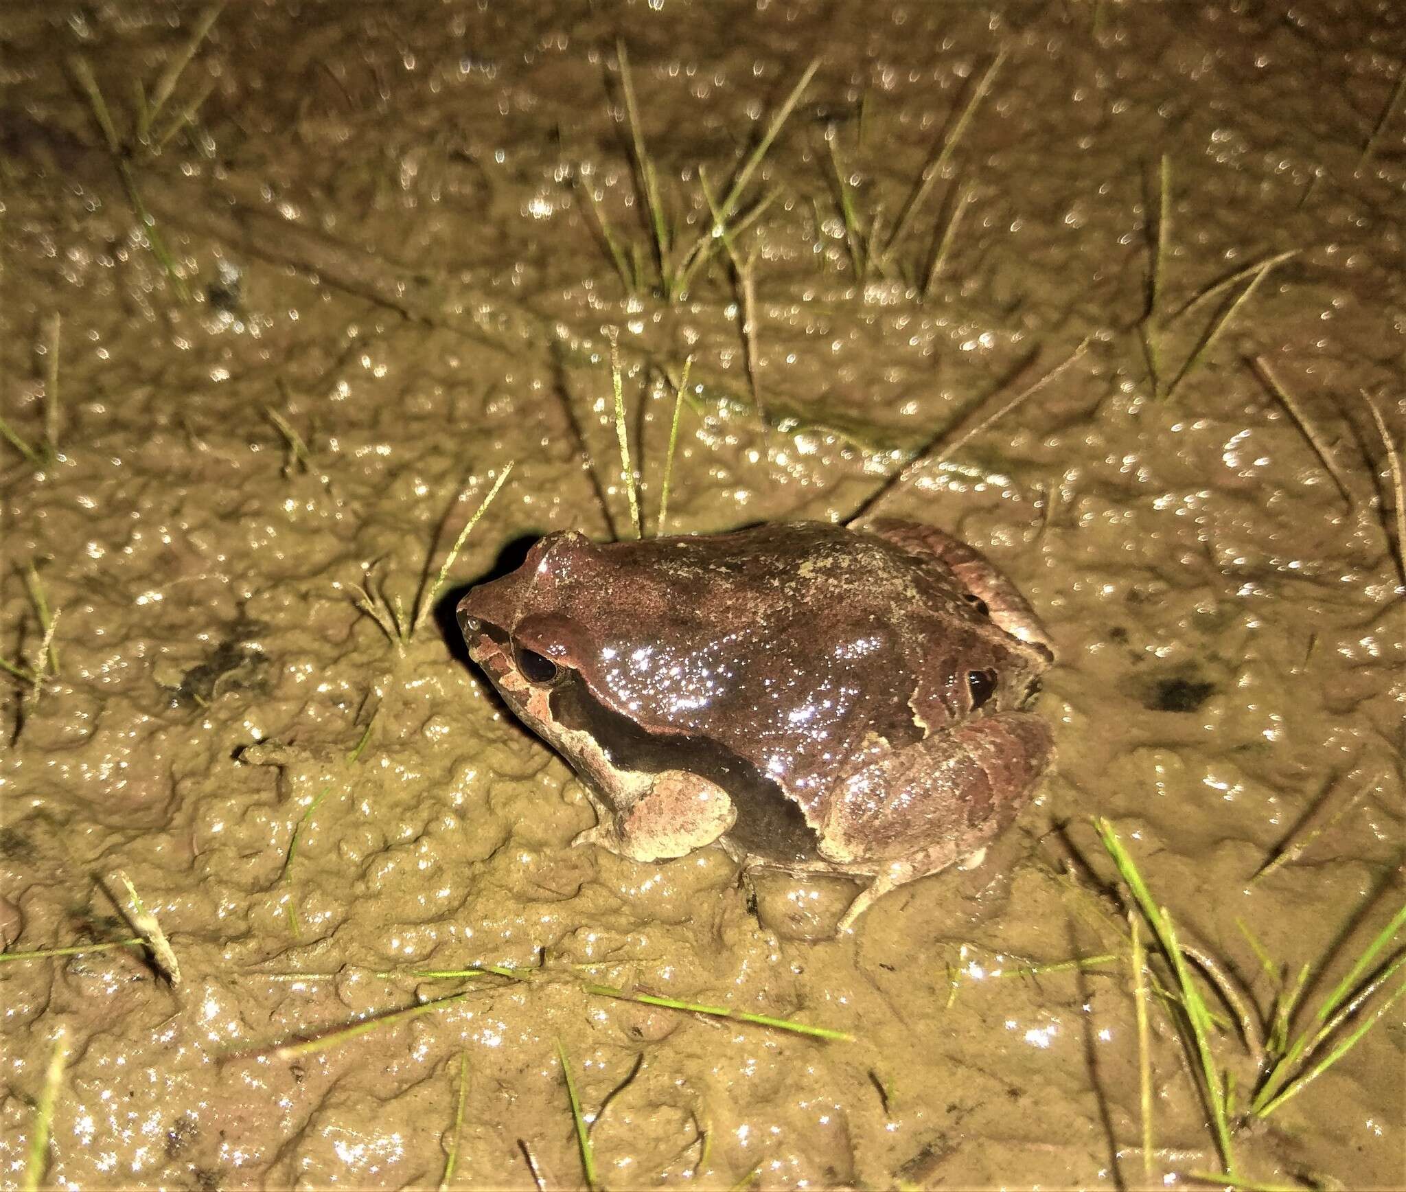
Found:
[[[1160,1002],[1144,1164],[1126,963],[1015,974],[1126,952],[1091,815],[1263,1012],[1277,987],[1247,932],[1271,967],[1315,966],[1316,1005],[1402,902],[1402,602],[1361,391],[1400,439],[1406,112],[1388,103],[1406,18],[1385,0],[1272,7],[582,3],[534,24],[229,6],[156,131],[209,86],[194,124],[134,157],[190,305],[67,62],[93,65],[125,138],[134,79],[153,94],[198,11],[0,13],[0,417],[35,451],[62,316],[55,458],[0,444],[0,656],[48,669],[31,564],[59,616],[58,673],[37,696],[6,676],[0,942],[131,938],[122,873],[183,976],[132,947],[0,966],[7,1182],[59,1032],[52,1186],[433,1185],[461,1057],[453,1185],[533,1188],[536,1164],[575,1186],[558,1039],[612,1188],[1216,1170]],[[718,254],[682,301],[652,292],[617,37],[682,245],[707,226],[699,164],[725,193],[820,58],[745,200],[773,195],[735,245],[745,284]],[[875,245],[904,228],[889,276],[855,276],[837,162],[860,219],[882,211]],[[633,297],[586,188],[638,245]],[[1289,253],[1205,347],[1254,274],[1208,291]],[[831,938],[839,879],[754,888],[718,849],[650,866],[571,848],[591,807],[472,669],[451,609],[523,536],[628,533],[609,328],[651,530],[673,413],[659,372],[695,357],[671,533],[845,517],[907,451],[1092,337],[883,510],[990,554],[1059,648],[1036,706],[1054,772],[981,867]],[[509,461],[398,649],[354,589],[405,623]],[[1303,825],[1322,831],[1251,883]],[[416,976],[468,964],[541,971]],[[1226,1026],[1216,1054],[1244,1089],[1256,1068]],[[1403,1047],[1388,1015],[1236,1134],[1240,1174],[1396,1184]]]

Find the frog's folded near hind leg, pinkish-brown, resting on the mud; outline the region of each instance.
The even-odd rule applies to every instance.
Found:
[[[1052,748],[1045,721],[1019,711],[935,732],[845,779],[820,850],[837,863],[908,860],[903,881],[936,873],[1015,818]]]

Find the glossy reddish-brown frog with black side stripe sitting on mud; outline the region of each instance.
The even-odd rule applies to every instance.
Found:
[[[1026,710],[1049,635],[984,557],[912,522],[550,534],[458,620],[583,780],[599,822],[576,843],[872,877],[841,926],[979,860],[1052,756]]]

